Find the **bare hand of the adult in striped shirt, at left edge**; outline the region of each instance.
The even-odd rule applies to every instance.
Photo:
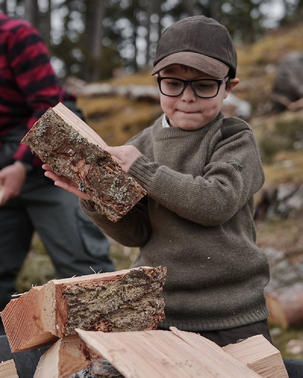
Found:
[[[0,206],[4,205],[10,198],[19,195],[26,178],[26,168],[16,161],[0,170],[1,197]]]

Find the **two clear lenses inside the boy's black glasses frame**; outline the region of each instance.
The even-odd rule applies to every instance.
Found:
[[[217,95],[218,83],[212,80],[198,80],[192,82],[195,94],[201,97],[213,97]],[[179,96],[183,91],[184,83],[178,79],[162,79],[161,91],[167,96]]]

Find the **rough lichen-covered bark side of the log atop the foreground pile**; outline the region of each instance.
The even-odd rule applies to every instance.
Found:
[[[164,319],[160,296],[166,268],[131,270],[121,279],[97,285],[74,284],[63,290],[67,308],[64,335],[75,328],[104,332],[155,329]]]

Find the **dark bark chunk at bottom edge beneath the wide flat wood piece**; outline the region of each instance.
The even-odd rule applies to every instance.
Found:
[[[85,369],[79,370],[70,378],[123,378],[106,359],[95,359]]]

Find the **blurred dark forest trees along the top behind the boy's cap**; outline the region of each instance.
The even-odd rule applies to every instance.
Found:
[[[283,3],[282,25],[299,22],[302,0]],[[213,17],[237,43],[258,40],[273,27],[271,6],[275,0],[0,0],[0,11],[24,17],[41,31],[60,77],[86,81],[108,79],[117,68],[130,73],[150,65],[159,35],[189,15]],[[257,55],[264,59],[262,51]]]

